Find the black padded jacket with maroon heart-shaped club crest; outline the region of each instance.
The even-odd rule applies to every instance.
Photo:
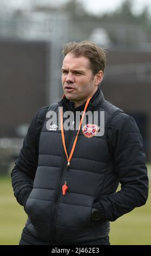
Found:
[[[36,113],[11,173],[12,186],[28,214],[26,226],[32,236],[50,244],[95,241],[108,235],[109,221],[146,203],[142,138],[135,120],[104,100],[98,89],[87,111],[104,111],[104,135],[87,138],[81,130],[67,170],[60,130],[46,129],[46,113],[58,113],[59,106],[74,114],[84,108],[74,109],[64,98]],[[76,132],[64,131],[68,154]],[[68,191],[63,196],[65,181]],[[116,192],[119,182],[121,190]],[[91,208],[100,210],[101,221],[91,221]]]

